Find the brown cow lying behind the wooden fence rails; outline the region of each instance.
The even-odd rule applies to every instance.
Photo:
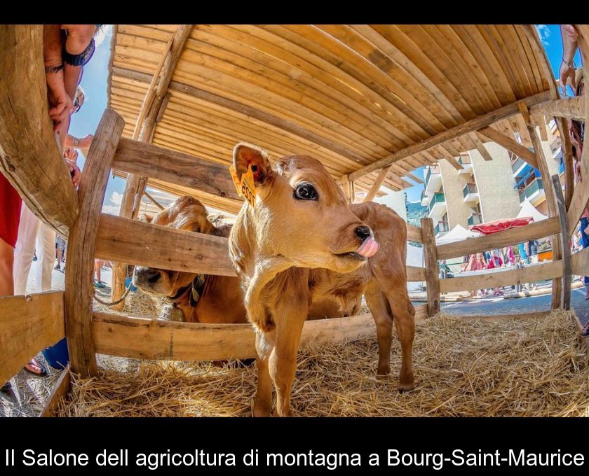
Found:
[[[216,227],[196,198],[185,195],[160,211],[151,223],[228,237],[229,225]],[[147,220],[149,221],[149,220]],[[200,323],[247,323],[237,276],[213,276],[136,266],[133,285],[145,293],[165,295],[180,314],[174,320]]]

